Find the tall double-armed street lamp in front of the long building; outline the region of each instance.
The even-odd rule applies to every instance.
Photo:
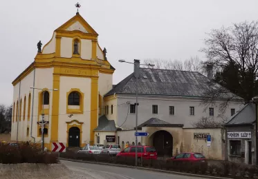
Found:
[[[138,131],[138,78],[140,74],[140,65],[146,65],[154,67],[153,64],[140,64],[140,60],[134,59],[134,63],[125,61],[123,59],[120,59],[119,62],[121,63],[130,63],[134,65],[134,76],[136,77],[136,132]],[[137,147],[138,147],[138,140],[136,136],[136,166],[138,165],[138,156],[137,156]]]

